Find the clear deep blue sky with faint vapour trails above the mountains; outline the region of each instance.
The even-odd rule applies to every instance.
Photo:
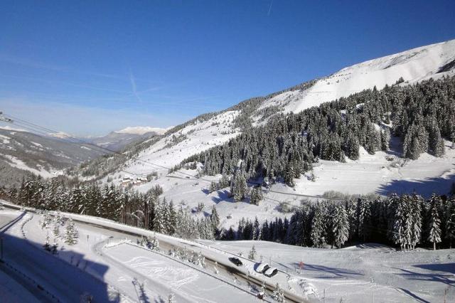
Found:
[[[166,127],[455,38],[455,1],[1,1],[0,110],[77,135]]]

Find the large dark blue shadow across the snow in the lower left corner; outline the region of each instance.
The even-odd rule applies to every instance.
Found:
[[[0,228],[3,242],[0,270],[11,280],[38,301],[82,302],[92,297],[93,302],[120,302],[120,294],[109,292],[109,285],[104,281],[107,265],[70,250],[58,250],[58,255],[53,255],[41,243],[7,234],[22,216]]]

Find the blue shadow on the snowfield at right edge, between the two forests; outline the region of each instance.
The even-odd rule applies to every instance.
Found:
[[[393,180],[389,184],[384,184],[378,188],[376,193],[388,196],[390,193],[418,193],[428,198],[432,193],[447,194],[451,185],[455,182],[455,174],[447,178],[435,177],[423,180]]]

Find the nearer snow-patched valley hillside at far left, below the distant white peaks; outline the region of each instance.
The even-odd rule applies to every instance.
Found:
[[[43,137],[22,129],[0,128],[0,184],[11,185],[33,173],[45,178],[82,161],[95,159],[103,152],[90,145]]]

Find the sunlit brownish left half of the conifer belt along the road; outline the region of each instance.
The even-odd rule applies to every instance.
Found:
[[[137,193],[95,183],[69,186],[65,181],[36,176],[24,179],[19,188],[0,188],[0,198],[25,207],[97,216],[181,238],[215,238],[219,223],[215,208],[213,215],[195,220],[182,207],[176,211],[172,201],[159,199],[161,193],[160,186]]]

